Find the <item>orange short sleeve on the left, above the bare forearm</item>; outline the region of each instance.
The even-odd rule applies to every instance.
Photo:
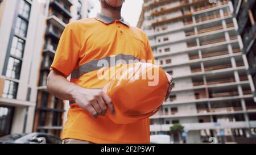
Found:
[[[72,25],[68,24],[60,37],[50,70],[56,69],[66,76],[73,72],[80,52],[80,40],[76,35]]]

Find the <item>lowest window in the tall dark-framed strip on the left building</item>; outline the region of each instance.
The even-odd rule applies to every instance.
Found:
[[[19,79],[20,69],[21,69],[21,61],[16,58],[9,57],[7,70],[6,70],[6,77]]]

